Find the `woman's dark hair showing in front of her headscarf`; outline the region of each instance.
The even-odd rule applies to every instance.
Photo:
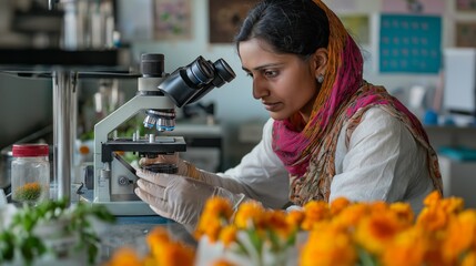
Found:
[[[312,0],[263,0],[247,14],[235,35],[240,42],[257,38],[274,52],[307,57],[328,43],[328,20]]]

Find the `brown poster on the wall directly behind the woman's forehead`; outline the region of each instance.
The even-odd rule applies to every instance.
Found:
[[[233,42],[250,9],[259,0],[210,0],[210,43]]]

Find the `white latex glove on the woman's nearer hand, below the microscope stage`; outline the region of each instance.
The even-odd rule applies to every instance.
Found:
[[[209,185],[202,181],[138,170],[135,194],[160,216],[183,224],[190,232],[195,228],[206,201],[212,196],[227,198],[234,209],[243,202],[243,194]]]

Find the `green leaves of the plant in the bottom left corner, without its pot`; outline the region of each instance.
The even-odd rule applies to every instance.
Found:
[[[69,223],[57,232],[63,235],[78,234],[81,247],[88,252],[88,262],[92,265],[99,253],[100,238],[90,223],[94,217],[105,223],[113,223],[115,217],[101,205],[89,205],[78,203],[70,207],[67,198],[59,201],[48,201],[34,207],[23,205],[12,217],[12,225],[9,231],[0,232],[0,264],[13,259],[16,250],[27,265],[36,258],[41,257],[49,250],[43,241],[33,234],[38,224],[54,223],[54,221],[68,219]]]

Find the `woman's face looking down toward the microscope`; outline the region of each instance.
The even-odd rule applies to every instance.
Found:
[[[308,121],[317,95],[315,63],[294,54],[277,54],[259,39],[240,42],[243,70],[253,79],[253,98],[274,120],[300,112]]]

